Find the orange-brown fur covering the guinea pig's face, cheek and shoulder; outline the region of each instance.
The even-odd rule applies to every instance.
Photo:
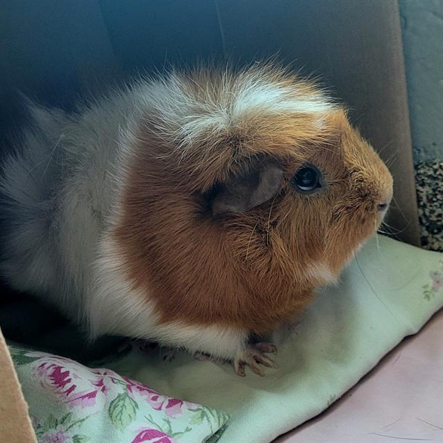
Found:
[[[297,85],[298,93],[316,92],[293,75],[264,75]],[[226,100],[217,89],[222,77],[200,71],[183,84],[195,100],[217,102]],[[184,141],[161,136],[161,124],[147,114],[137,128],[114,238],[134,287],[165,322],[268,332],[302,311],[323,284],[307,266],[322,263],[337,275],[379,225],[374,207],[390,200],[386,166],[338,106],[320,114],[251,109],[228,128]],[[284,170],[278,195],[246,213],[212,215],[207,193],[217,183],[269,161]],[[291,188],[305,163],[325,176],[316,195]]]

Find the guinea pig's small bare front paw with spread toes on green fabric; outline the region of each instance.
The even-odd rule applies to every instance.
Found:
[[[233,360],[235,374],[244,377],[246,375],[244,372],[244,365],[248,365],[255,374],[263,377],[264,370],[260,368],[259,363],[268,368],[277,369],[277,363],[266,357],[264,354],[277,354],[277,348],[271,343],[264,342],[251,343],[248,345],[248,347],[239,352]]]

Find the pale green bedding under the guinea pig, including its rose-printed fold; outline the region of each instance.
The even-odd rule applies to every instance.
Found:
[[[318,290],[280,344],[279,368],[266,377],[251,371],[237,377],[230,365],[196,361],[185,352],[165,361],[161,350],[130,342],[91,364],[106,370],[70,361],[78,367],[68,377],[60,357],[44,356],[39,370],[46,361],[37,361],[41,354],[10,350],[40,443],[268,443],[325,410],[442,306],[443,255],[379,236],[336,286]],[[51,372],[57,365],[62,369]],[[82,383],[96,387],[85,408],[99,397],[102,406],[88,415],[93,419],[73,425],[82,418],[74,417],[69,399],[82,402],[70,397],[72,386],[75,395],[92,392]],[[42,408],[54,392],[63,400],[56,414],[53,397]]]

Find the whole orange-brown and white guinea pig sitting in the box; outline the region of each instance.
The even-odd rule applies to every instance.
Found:
[[[287,69],[139,78],[76,111],[28,100],[3,161],[1,274],[87,326],[245,365],[378,228],[392,177]]]

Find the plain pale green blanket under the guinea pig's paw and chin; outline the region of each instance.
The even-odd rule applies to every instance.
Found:
[[[322,289],[289,341],[278,370],[237,377],[229,365],[185,353],[165,363],[135,349],[108,366],[165,395],[231,415],[219,443],[267,443],[341,397],[402,338],[443,306],[443,255],[379,236]]]

